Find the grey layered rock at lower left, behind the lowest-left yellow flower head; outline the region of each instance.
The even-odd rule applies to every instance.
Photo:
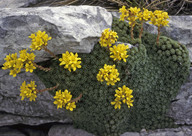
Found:
[[[8,70],[0,70],[0,126],[71,122],[63,110],[57,110],[53,96],[48,92],[38,94],[35,102],[21,101],[20,86],[23,81],[29,83],[31,80],[35,81],[37,89],[45,88],[34,74],[22,72],[13,78]]]

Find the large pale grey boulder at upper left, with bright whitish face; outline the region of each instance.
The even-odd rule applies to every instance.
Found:
[[[90,53],[104,29],[110,28],[112,15],[106,9],[91,6],[0,9],[0,65],[9,53],[29,48],[31,33],[46,31],[52,40],[48,49],[55,54],[65,51]],[[36,51],[36,61],[50,54]]]

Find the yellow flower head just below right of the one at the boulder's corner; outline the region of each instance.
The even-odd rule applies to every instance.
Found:
[[[125,44],[114,45],[110,48],[110,54],[112,54],[110,57],[113,58],[114,61],[123,59],[123,61],[126,62],[126,58],[128,57],[127,49],[129,49],[129,46]]]

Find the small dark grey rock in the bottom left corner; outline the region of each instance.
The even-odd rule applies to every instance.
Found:
[[[16,129],[11,129],[9,127],[1,127],[0,136],[26,136],[26,135]]]

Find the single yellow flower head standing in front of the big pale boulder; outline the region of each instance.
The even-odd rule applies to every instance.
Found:
[[[36,34],[36,35],[35,35]],[[43,46],[47,46],[47,42],[51,40],[45,31],[41,32],[40,30],[36,33],[33,33],[29,36],[32,39],[30,48],[32,50],[41,50]]]

